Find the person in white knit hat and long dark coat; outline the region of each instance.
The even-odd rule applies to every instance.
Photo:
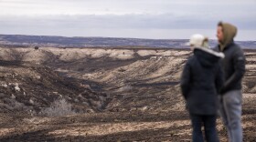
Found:
[[[204,141],[201,130],[203,125],[206,140],[218,142],[218,94],[223,84],[219,59],[224,55],[209,49],[208,38],[204,35],[192,35],[188,45],[194,55],[187,60],[180,86],[193,127],[193,141]]]

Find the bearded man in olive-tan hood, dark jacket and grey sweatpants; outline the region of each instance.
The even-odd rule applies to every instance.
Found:
[[[220,89],[220,116],[228,130],[230,142],[242,142],[241,127],[241,81],[245,74],[245,56],[240,46],[234,43],[237,27],[219,22],[217,37],[219,45],[215,50],[223,52],[221,61],[224,85]]]

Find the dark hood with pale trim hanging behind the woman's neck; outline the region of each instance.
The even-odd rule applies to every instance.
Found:
[[[224,58],[223,53],[215,52],[205,47],[195,47],[194,55],[202,66],[215,66],[220,58]]]

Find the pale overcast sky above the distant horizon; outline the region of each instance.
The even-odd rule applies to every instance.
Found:
[[[0,0],[0,34],[216,39],[222,20],[236,40],[256,40],[256,0]]]

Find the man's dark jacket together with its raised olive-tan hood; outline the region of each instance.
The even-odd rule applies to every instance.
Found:
[[[221,61],[225,78],[224,86],[220,90],[223,95],[230,90],[241,89],[241,79],[245,74],[245,57],[240,46],[233,41],[237,35],[237,27],[229,23],[221,23],[221,26],[224,38],[214,50],[225,55]]]

